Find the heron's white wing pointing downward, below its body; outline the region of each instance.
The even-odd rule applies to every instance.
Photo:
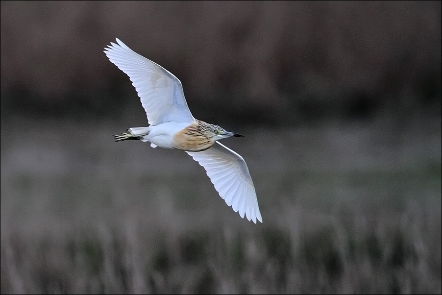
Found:
[[[243,157],[216,142],[204,151],[187,151],[204,167],[215,189],[235,212],[256,223],[263,222],[258,208],[255,188]]]

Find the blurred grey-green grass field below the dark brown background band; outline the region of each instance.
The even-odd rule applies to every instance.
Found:
[[[1,294],[441,293],[440,118],[236,130],[258,225],[126,127],[2,120]]]

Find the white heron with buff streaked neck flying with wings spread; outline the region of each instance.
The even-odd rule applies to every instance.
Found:
[[[115,141],[140,140],[152,148],[183,150],[202,166],[215,189],[241,218],[262,221],[258,199],[244,158],[219,141],[243,135],[197,120],[187,106],[181,81],[136,53],[120,39],[104,48],[108,59],[129,76],[146,111],[147,127],[131,127]]]

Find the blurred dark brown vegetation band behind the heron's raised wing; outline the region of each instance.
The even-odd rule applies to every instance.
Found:
[[[1,110],[116,117],[139,108],[102,52],[118,37],[177,75],[199,117],[213,120],[226,105],[217,116],[238,123],[396,114],[440,100],[441,9],[441,1],[1,1]]]

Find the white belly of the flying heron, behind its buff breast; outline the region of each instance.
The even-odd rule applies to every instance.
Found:
[[[189,125],[190,123],[167,122],[150,126],[150,132],[144,138],[160,148],[174,148],[173,136]]]

